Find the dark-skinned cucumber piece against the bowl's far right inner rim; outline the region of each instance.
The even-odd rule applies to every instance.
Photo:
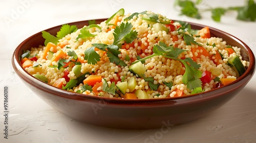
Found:
[[[236,70],[239,77],[245,73],[246,69],[238,56],[229,57],[227,61],[229,64],[235,67],[233,69]]]

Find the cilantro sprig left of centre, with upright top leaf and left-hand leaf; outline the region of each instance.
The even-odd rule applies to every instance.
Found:
[[[84,59],[88,61],[89,64],[96,64],[100,61],[99,54],[95,51],[95,48],[105,51],[108,55],[110,62],[116,63],[120,66],[126,66],[125,62],[122,61],[118,54],[121,52],[119,49],[122,46],[122,43],[131,43],[134,39],[137,38],[137,31],[132,30],[133,26],[129,22],[122,22],[120,26],[117,26],[114,30],[114,42],[110,45],[103,43],[94,43],[93,46],[88,47],[86,51],[84,51]]]

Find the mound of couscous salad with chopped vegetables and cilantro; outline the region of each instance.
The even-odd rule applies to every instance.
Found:
[[[45,46],[25,51],[22,66],[35,78],[72,92],[123,99],[181,97],[229,84],[249,65],[240,47],[151,11],[78,29],[42,31]]]

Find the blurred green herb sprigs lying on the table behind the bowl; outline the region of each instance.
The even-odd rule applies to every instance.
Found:
[[[181,8],[181,15],[186,15],[188,17],[201,19],[201,12],[210,11],[211,18],[217,22],[221,21],[221,16],[223,16],[228,11],[236,11],[238,13],[237,19],[243,21],[256,21],[256,4],[254,0],[246,0],[244,6],[238,7],[217,7],[208,9],[199,9],[198,6],[203,0],[189,1],[189,0],[176,0],[175,6]]]

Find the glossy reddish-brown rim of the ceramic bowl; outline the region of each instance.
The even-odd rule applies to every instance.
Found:
[[[105,20],[105,18],[103,19],[95,19],[97,21],[103,21]],[[86,25],[85,23],[88,23],[89,20],[82,20],[82,21],[75,21],[75,22],[70,22],[68,23],[69,25],[77,25],[80,24],[81,26]],[[175,21],[175,20],[174,20]],[[186,21],[184,21],[186,22]],[[81,24],[82,23],[82,24]],[[201,25],[199,23],[195,23],[195,22],[188,22],[191,27],[206,27],[205,25]],[[62,25],[59,26],[55,26],[49,29],[46,29],[44,31],[50,31],[56,28],[59,28]],[[209,27],[209,26],[207,26]],[[160,98],[160,99],[121,99],[121,98],[106,98],[106,97],[99,97],[99,96],[90,96],[90,95],[86,95],[86,94],[81,94],[81,93],[75,93],[75,92],[71,92],[71,91],[67,91],[64,89],[60,89],[57,87],[54,87],[52,85],[46,84],[36,78],[34,78],[32,75],[30,75],[23,67],[22,64],[20,64],[19,62],[19,53],[20,50],[24,49],[24,44],[26,42],[28,42],[31,38],[33,38],[34,36],[38,36],[39,34],[41,35],[41,31],[37,32],[35,34],[33,34],[32,36],[28,37],[27,39],[25,39],[23,42],[21,42],[16,49],[13,52],[12,55],[12,66],[14,68],[14,71],[16,72],[16,74],[22,78],[24,81],[28,82],[30,85],[36,87],[36,88],[40,88],[41,90],[44,90],[46,92],[52,93],[55,96],[59,96],[59,97],[63,97],[63,98],[68,98],[68,99],[73,99],[73,100],[80,100],[80,101],[93,101],[93,102],[107,102],[108,104],[118,104],[118,105],[136,105],[136,106],[140,106],[140,104],[147,104],[148,106],[152,105],[154,106],[155,104],[159,105],[159,104],[163,104],[166,105],[167,104],[187,104],[187,101],[200,101],[200,100],[207,100],[210,98],[214,98],[214,97],[218,97],[221,96],[221,94],[218,94],[217,90],[223,90],[225,93],[228,93],[228,91],[225,91],[223,88],[228,87],[230,85],[233,85],[235,83],[242,83],[242,82],[248,82],[250,80],[250,78],[253,76],[254,71],[255,71],[255,57],[253,52],[251,51],[250,47],[244,43],[242,40],[240,40],[239,38],[226,33],[222,30],[216,29],[216,28],[212,28],[209,27],[210,31],[215,31],[218,33],[222,33],[224,35],[227,35],[228,37],[236,40],[238,43],[240,43],[243,47],[243,49],[247,52],[248,57],[249,57],[249,66],[246,69],[245,73],[239,77],[236,81],[229,83],[227,85],[221,86],[219,88],[215,88],[209,91],[204,91],[201,93],[197,93],[197,94],[191,94],[188,96],[183,96],[183,97],[174,97],[174,98]],[[224,39],[225,40],[225,39]],[[38,44],[39,45],[39,44]],[[248,77],[248,78],[246,78]],[[244,80],[246,79],[246,80]],[[203,96],[202,96],[203,95]]]

